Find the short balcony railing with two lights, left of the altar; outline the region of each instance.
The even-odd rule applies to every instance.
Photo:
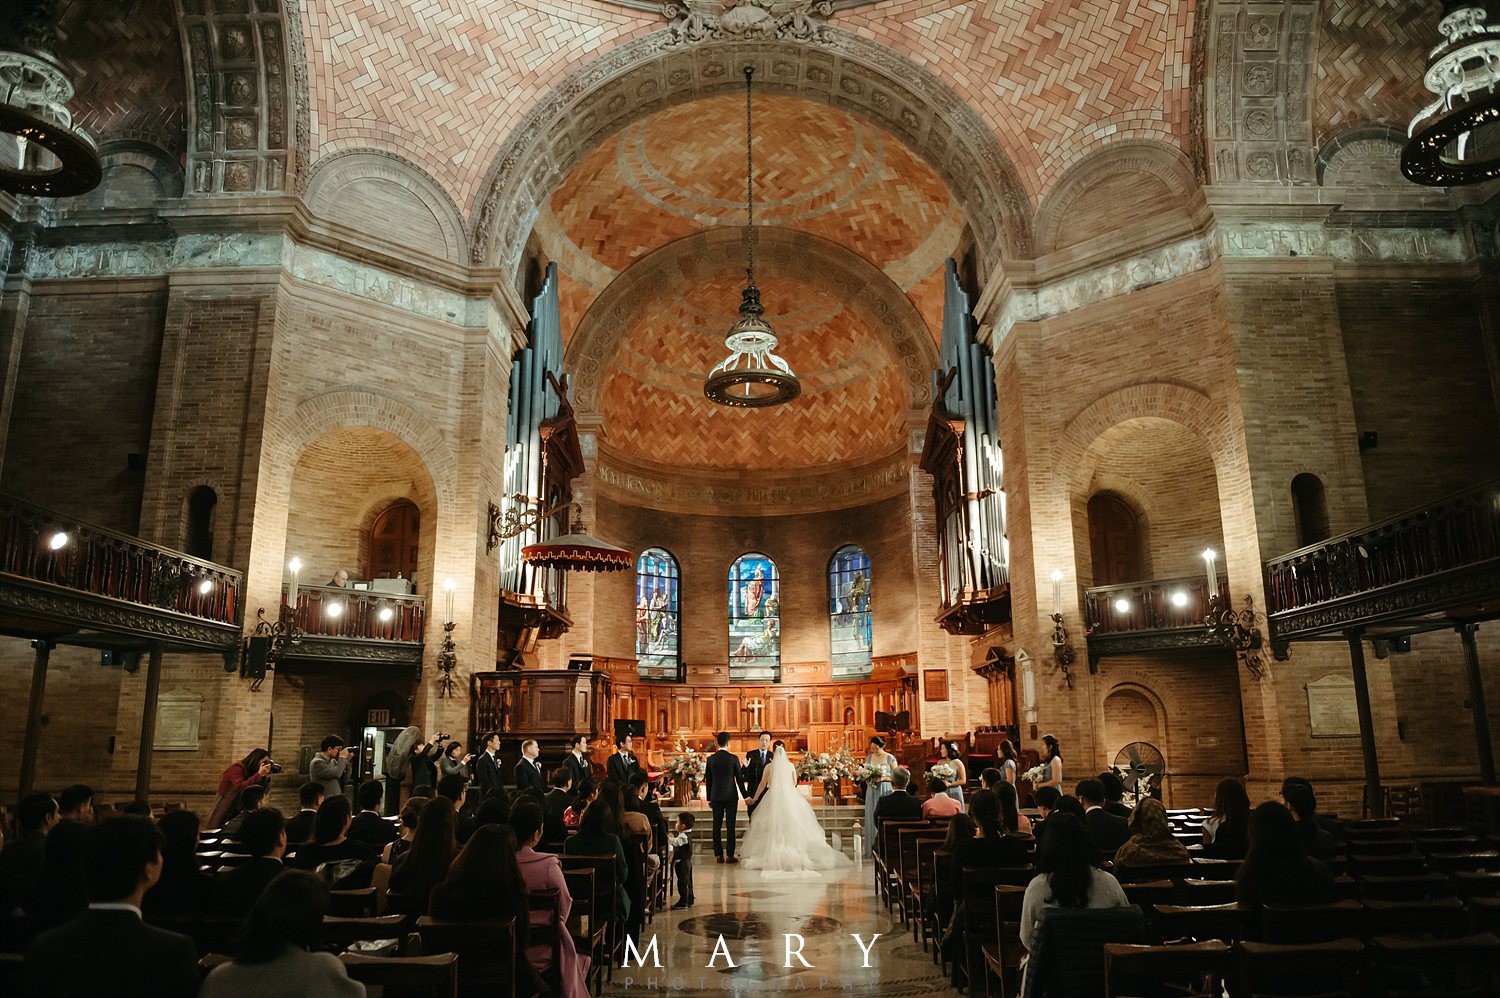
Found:
[[[288,660],[420,666],[428,602],[405,593],[300,585],[292,620],[303,638],[286,651]]]

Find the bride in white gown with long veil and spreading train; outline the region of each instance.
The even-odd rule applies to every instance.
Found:
[[[758,806],[740,848],[746,869],[762,870],[766,878],[795,878],[852,864],[828,845],[813,806],[796,791],[796,770],[780,741],[750,803]]]

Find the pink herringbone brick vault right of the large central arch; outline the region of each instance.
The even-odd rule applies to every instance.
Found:
[[[908,0],[836,23],[916,60],[993,125],[1040,200],[1114,138],[1188,134],[1196,0]]]

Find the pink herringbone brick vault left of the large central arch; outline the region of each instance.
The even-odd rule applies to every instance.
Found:
[[[309,0],[310,155],[410,156],[468,207],[537,98],[660,18],[590,0]]]

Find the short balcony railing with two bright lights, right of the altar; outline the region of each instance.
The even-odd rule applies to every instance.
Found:
[[[1220,579],[1218,587],[1220,599],[1228,600],[1228,581]],[[1096,671],[1106,656],[1222,647],[1203,623],[1208,603],[1209,584],[1202,575],[1084,590],[1089,669]]]

